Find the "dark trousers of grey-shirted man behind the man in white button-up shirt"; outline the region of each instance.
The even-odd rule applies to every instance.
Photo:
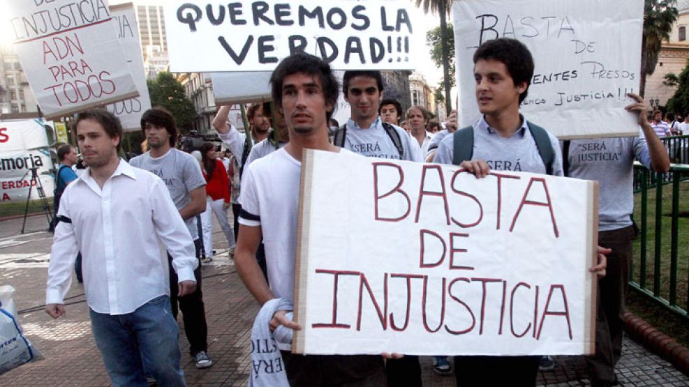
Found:
[[[199,259],[201,239],[194,241],[196,259]],[[177,297],[178,280],[175,269],[172,268],[172,257],[168,254],[168,268],[170,269],[170,307],[172,316],[177,319],[177,303],[184,321],[184,334],[189,341],[189,354],[195,355],[199,351],[208,350],[208,326],[206,324],[206,309],[203,305],[203,293],[201,291],[201,262],[194,271],[196,278],[196,291],[188,296]]]

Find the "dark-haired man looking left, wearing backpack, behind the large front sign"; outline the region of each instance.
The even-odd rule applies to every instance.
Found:
[[[526,121],[519,104],[533,76],[533,58],[518,40],[489,40],[473,56],[480,120],[440,142],[434,162],[461,165],[478,178],[491,169],[562,176],[558,139]],[[605,252],[599,249],[600,252]],[[589,269],[604,271],[601,264]],[[535,386],[540,356],[455,356],[458,386]]]

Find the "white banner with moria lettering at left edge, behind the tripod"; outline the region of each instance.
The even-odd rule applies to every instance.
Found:
[[[46,197],[52,197],[54,177],[50,148],[45,134],[45,121],[0,122],[0,203],[26,202],[31,190],[31,199],[38,199],[31,168],[36,174]]]

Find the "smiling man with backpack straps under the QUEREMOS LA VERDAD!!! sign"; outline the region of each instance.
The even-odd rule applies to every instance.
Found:
[[[402,128],[383,122],[378,115],[383,100],[380,71],[345,71],[342,91],[352,115],[335,132],[336,146],[367,157],[421,161],[420,146]]]

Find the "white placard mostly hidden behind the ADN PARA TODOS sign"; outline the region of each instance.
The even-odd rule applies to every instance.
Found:
[[[134,79],[139,96],[112,103],[107,108],[108,111],[119,117],[124,131],[139,130],[141,115],[151,108],[151,98],[146,86],[144,58],[141,54],[141,41],[139,40],[134,6],[132,3],[112,6],[110,7],[110,15],[112,15],[112,23],[117,29],[117,38],[124,51],[124,58],[129,66],[129,72]]]

